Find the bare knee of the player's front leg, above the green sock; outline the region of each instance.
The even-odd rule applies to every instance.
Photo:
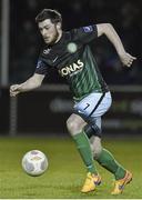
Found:
[[[67,120],[67,128],[71,134],[77,134],[82,131],[87,122],[79,116],[72,113]]]

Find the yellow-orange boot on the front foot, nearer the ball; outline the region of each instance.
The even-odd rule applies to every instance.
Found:
[[[100,183],[101,183],[101,177],[99,174],[95,176],[88,172],[87,179],[84,181],[81,192],[85,193],[85,192],[93,191],[95,187],[99,186]]]

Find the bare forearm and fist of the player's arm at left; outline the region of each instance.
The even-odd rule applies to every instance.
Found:
[[[44,79],[44,74],[34,73],[26,82],[10,87],[10,96],[16,97],[20,92],[26,92],[39,88]]]

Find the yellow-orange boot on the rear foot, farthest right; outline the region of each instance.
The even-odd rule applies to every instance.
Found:
[[[132,173],[130,171],[126,171],[123,179],[115,180],[114,182],[114,189],[111,192],[111,194],[120,194],[123,192],[124,187],[132,181]]]

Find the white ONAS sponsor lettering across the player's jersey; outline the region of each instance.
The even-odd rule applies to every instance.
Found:
[[[78,60],[77,62],[73,62],[70,66],[63,67],[59,70],[59,73],[61,77],[65,76],[73,76],[77,74],[79,71],[81,71],[84,67],[84,63],[81,60]]]

